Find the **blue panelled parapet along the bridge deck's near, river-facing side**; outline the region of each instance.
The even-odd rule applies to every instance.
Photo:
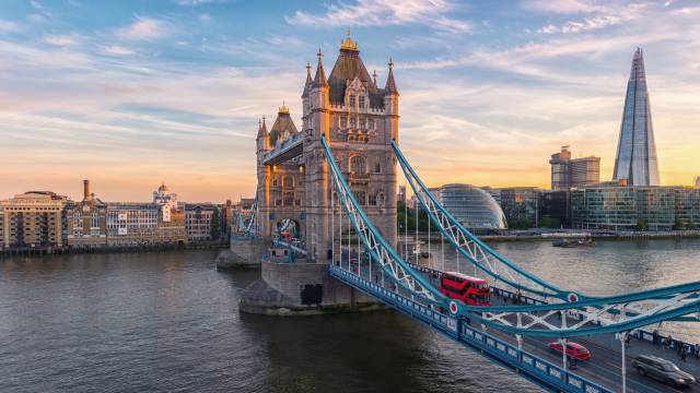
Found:
[[[413,301],[384,286],[372,283],[340,266],[329,265],[329,273],[368,295],[430,325],[448,337],[482,352],[490,358],[513,370],[518,370],[532,381],[555,391],[608,393],[612,390],[564,370],[545,359],[506,343],[489,333],[469,325],[464,319],[453,318],[422,303]]]

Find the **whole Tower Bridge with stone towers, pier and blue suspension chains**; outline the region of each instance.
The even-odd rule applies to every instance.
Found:
[[[674,391],[635,371],[628,376],[631,356],[668,357],[650,329],[697,321],[700,283],[592,297],[520,267],[465,228],[411,167],[398,143],[398,97],[392,61],[381,88],[348,35],[328,78],[320,51],[314,78],[307,66],[301,131],[285,106],[269,131],[260,121],[256,207],[243,231],[301,258],[268,258],[261,279],[242,294],[241,310],[305,314],[383,303],[551,391]],[[430,218],[429,245],[434,234],[440,248],[452,248],[488,279],[491,305],[443,294],[444,257],[442,269],[429,269],[397,251],[398,168]],[[627,349],[627,336],[640,343]],[[550,341],[573,340],[593,353],[578,367],[545,350]],[[700,372],[698,360],[684,366]]]

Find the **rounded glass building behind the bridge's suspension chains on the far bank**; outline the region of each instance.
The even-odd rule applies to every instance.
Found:
[[[432,190],[468,229],[505,229],[505,215],[488,192],[471,184],[444,184]]]

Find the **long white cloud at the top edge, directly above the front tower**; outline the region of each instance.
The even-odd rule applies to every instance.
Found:
[[[288,23],[304,26],[389,26],[418,24],[448,33],[469,33],[469,22],[451,19],[455,5],[447,0],[358,0],[326,4],[326,13],[296,11]]]

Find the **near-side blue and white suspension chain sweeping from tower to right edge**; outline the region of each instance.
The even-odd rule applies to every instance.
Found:
[[[678,296],[684,295],[690,291],[700,290],[700,283],[691,283],[684,284],[678,286],[673,286],[668,288],[660,288],[648,290],[643,293],[615,296],[609,298],[584,298],[584,300],[572,301],[569,303],[555,303],[555,305],[537,305],[537,306],[499,306],[499,307],[477,307],[477,306],[467,306],[462,302],[457,302],[454,300],[447,299],[443,296],[436,288],[434,288],[422,275],[417,273],[410,264],[405,262],[398,253],[386,243],[386,241],[382,238],[376,228],[372,225],[368,216],[365,215],[362,207],[359,205],[358,201],[354,199],[350,187],[346,182],[338,164],[336,163],[332,153],[325,140],[322,138],[322,145],[325,150],[326,160],[330,167],[330,172],[332,175],[332,180],[336,186],[336,190],[338,191],[338,199],[348,213],[349,219],[351,221],[355,231],[358,233],[360,239],[362,240],[365,250],[370,252],[372,255],[372,260],[381,265],[381,267],[388,273],[389,279],[397,283],[402,288],[409,290],[415,296],[422,298],[427,303],[444,307],[450,309],[451,312],[455,317],[465,317],[471,320],[479,321],[485,325],[499,329],[501,331],[521,334],[521,335],[532,335],[532,336],[559,336],[559,337],[574,337],[581,335],[590,335],[590,334],[600,334],[600,333],[610,333],[610,332],[623,332],[633,330],[637,327],[641,327],[644,325],[649,325],[655,322],[674,319],[682,315],[687,315],[692,312],[698,312],[700,309],[700,300],[690,301],[690,302],[681,302],[677,301],[675,305],[663,305],[663,307],[654,310],[653,312],[649,312],[644,315],[633,314],[632,318],[627,320],[619,321],[610,321],[605,325],[594,324],[590,326],[591,323],[598,319],[597,315],[592,312],[585,310],[586,307],[593,308],[605,308],[606,310],[612,307],[621,306],[622,310],[625,307],[628,307],[629,302],[637,300],[649,300],[654,299],[654,297],[664,297],[668,295]],[[395,148],[397,148],[396,144],[394,144]],[[400,154],[400,152],[397,152]],[[404,159],[405,160],[405,159]],[[420,181],[420,179],[418,179]],[[421,182],[422,184],[422,182]],[[422,184],[424,187],[424,184]],[[446,212],[448,214],[448,212]],[[465,229],[466,230],[466,229]],[[480,240],[474,237],[471,234],[466,231],[471,238],[476,239],[479,243]],[[481,243],[482,245],[482,243]],[[458,246],[458,245],[455,245]],[[490,249],[489,249],[490,250]],[[491,252],[493,252],[491,250]],[[495,252],[493,252],[495,254]],[[498,255],[498,254],[495,254]],[[500,257],[500,255],[499,255]],[[502,257],[500,257],[502,259]],[[537,283],[541,283],[548,285],[544,281],[537,278],[536,276],[523,271],[518,266],[513,263],[502,259],[508,262],[508,265],[514,266],[518,272],[525,273],[527,278],[530,278]],[[407,284],[408,283],[408,284]],[[549,287],[555,288],[549,285]],[[559,289],[558,289],[559,290]],[[680,299],[682,300],[682,299]],[[620,305],[618,305],[620,303]],[[547,318],[552,315],[552,312],[561,312],[570,310],[570,312],[576,312],[579,314],[583,314],[586,319],[582,319],[581,323],[578,323],[573,326],[567,326],[565,320],[562,319],[559,323],[560,326],[556,325],[553,322],[548,321]],[[542,315],[540,312],[545,312]],[[517,317],[517,325],[514,326],[513,322],[506,320],[505,317]],[[521,317],[527,319],[525,323],[521,322]],[[544,326],[545,329],[535,329],[535,326]]]

